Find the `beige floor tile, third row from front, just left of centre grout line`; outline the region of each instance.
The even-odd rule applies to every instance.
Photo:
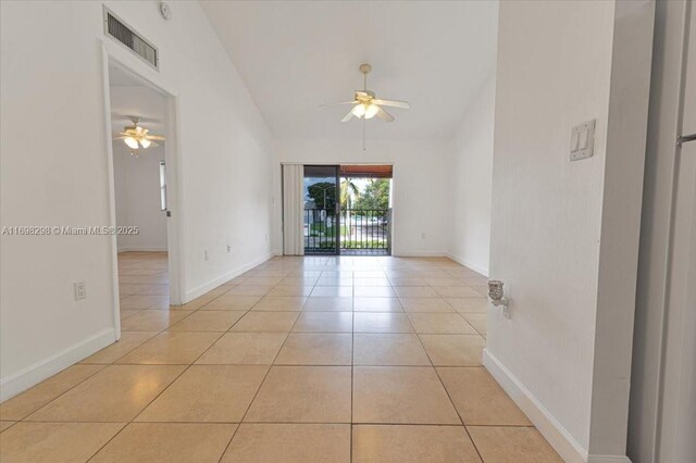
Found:
[[[276,365],[351,365],[352,335],[299,334],[288,336]]]

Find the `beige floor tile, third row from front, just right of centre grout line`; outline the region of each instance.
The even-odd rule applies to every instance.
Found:
[[[430,365],[421,341],[409,334],[353,335],[356,365]]]

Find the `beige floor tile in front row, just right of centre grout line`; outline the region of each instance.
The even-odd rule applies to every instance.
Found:
[[[355,463],[480,463],[463,426],[353,426]]]

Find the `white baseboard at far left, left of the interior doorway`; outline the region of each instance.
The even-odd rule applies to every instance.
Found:
[[[0,379],[0,401],[4,402],[115,341],[116,331],[113,328],[102,329],[67,349]]]

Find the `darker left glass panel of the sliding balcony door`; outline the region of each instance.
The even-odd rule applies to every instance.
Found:
[[[339,166],[304,166],[304,254],[338,254]]]

